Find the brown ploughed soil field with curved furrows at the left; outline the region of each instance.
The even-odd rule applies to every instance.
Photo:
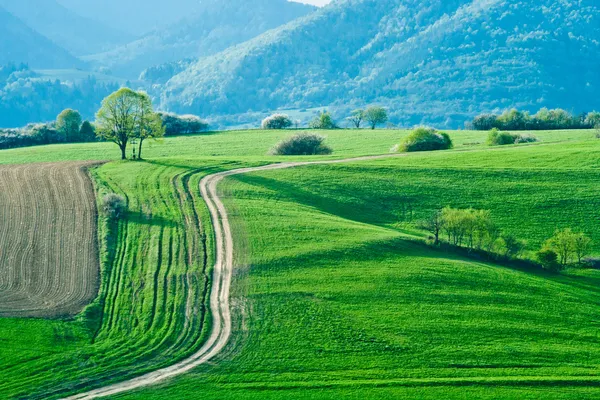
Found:
[[[0,316],[74,315],[96,296],[91,165],[0,166]]]

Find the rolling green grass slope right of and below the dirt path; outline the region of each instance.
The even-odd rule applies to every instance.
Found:
[[[489,208],[531,246],[562,225],[598,239],[597,171],[573,170],[589,154],[569,148],[545,147],[564,157],[554,168],[543,157],[519,168],[514,159],[542,147],[517,147],[230,178],[222,190],[249,253],[236,346],[217,365],[116,398],[597,397],[600,272],[439,253],[398,222],[416,196],[417,216]]]

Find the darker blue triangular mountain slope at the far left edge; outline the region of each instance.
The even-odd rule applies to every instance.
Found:
[[[0,7],[0,65],[26,63],[32,68],[77,68],[83,63]]]

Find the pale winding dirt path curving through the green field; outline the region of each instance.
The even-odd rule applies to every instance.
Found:
[[[215,232],[216,261],[213,269],[212,289],[210,294],[210,310],[212,313],[211,335],[202,348],[192,356],[169,367],[165,367],[137,378],[116,383],[89,392],[77,394],[64,400],[89,400],[116,395],[135,389],[151,386],[173,378],[199,365],[205,364],[227,345],[231,336],[231,309],[229,306],[229,293],[233,275],[234,243],[227,209],[219,198],[217,186],[224,178],[250,172],[294,168],[306,165],[340,164],[353,161],[376,160],[382,158],[399,157],[402,154],[386,154],[379,156],[365,156],[326,161],[290,162],[271,164],[262,167],[241,168],[231,171],[219,172],[208,175],[200,181],[200,191],[210,211]]]

